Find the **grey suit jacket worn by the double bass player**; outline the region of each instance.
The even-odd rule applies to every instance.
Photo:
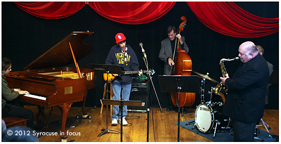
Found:
[[[184,47],[182,48],[179,44],[179,48],[184,49],[186,53],[189,52],[189,47],[185,43],[185,38],[181,37],[181,40],[184,44]],[[173,47],[175,48],[175,47]],[[173,59],[174,53],[172,53],[172,46],[171,46],[171,40],[169,38],[164,39],[161,41],[161,49],[159,52],[158,58],[165,62],[164,64],[164,75],[171,75],[171,66],[167,63],[167,58],[170,57]]]

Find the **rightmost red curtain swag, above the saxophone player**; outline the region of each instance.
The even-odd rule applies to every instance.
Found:
[[[255,16],[233,2],[186,3],[204,25],[231,37],[263,37],[279,30],[279,18]]]

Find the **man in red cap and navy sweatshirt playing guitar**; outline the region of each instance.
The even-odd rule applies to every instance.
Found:
[[[117,45],[111,47],[108,56],[105,60],[105,64],[119,65],[123,67],[125,71],[139,70],[139,76],[142,75],[142,70],[139,69],[139,61],[136,53],[132,47],[126,45],[126,38],[123,33],[117,33],[115,35]],[[113,74],[115,77],[117,74]],[[122,79],[122,80],[121,80]],[[122,75],[120,80],[115,80],[112,84],[113,88],[113,100],[120,100],[120,94],[122,89],[122,100],[128,101],[130,96],[130,90],[132,87],[132,74]],[[127,115],[127,105],[123,106],[123,119],[122,124],[128,125],[125,117]],[[117,125],[121,123],[121,114],[119,115],[119,105],[113,105],[113,115],[111,116],[111,125]],[[119,120],[118,120],[119,119]]]

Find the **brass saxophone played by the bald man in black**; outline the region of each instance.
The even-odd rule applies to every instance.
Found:
[[[234,61],[234,60],[239,60],[240,58],[239,57],[236,57],[236,58],[233,58],[233,59],[221,59],[219,61],[219,65],[220,65],[220,69],[221,69],[221,73],[222,73],[222,77],[225,78],[227,77],[227,70],[226,68],[224,67],[224,64],[223,62],[224,61]],[[222,93],[225,93],[227,94],[227,88],[222,86],[222,83],[218,83],[217,86],[215,87],[215,94],[218,95],[220,92],[222,91]]]

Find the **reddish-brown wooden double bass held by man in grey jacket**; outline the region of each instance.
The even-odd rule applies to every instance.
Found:
[[[183,31],[186,26],[186,17],[181,16],[183,22],[180,24],[177,34]],[[192,71],[192,61],[184,49],[179,48],[179,40],[176,39],[171,75],[190,76]],[[171,93],[171,99],[175,106],[178,106],[178,93]],[[195,101],[195,93],[180,93],[179,107],[191,106]]]

